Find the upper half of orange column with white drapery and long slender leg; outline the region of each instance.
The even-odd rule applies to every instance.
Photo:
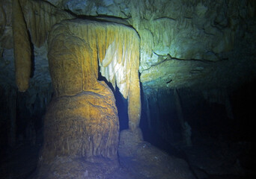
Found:
[[[72,34],[75,34],[75,37],[70,36]],[[58,40],[55,40],[55,37]],[[70,48],[65,46],[67,44]],[[97,80],[98,68],[95,60],[98,59],[102,75],[112,82],[113,87],[117,84],[124,98],[128,97],[129,128],[131,130],[138,128],[141,113],[138,45],[138,35],[125,25],[79,19],[55,25],[49,37],[49,46],[58,46],[56,48],[58,51],[52,52],[50,48],[49,58],[63,58],[58,54],[62,51],[70,51],[64,57],[67,59],[64,62],[57,59],[49,60],[56,95],[74,95],[82,90],[97,88],[94,84]],[[79,60],[70,61],[76,59],[73,56]],[[60,66],[58,63],[67,63],[68,68],[53,69],[52,66]],[[58,78],[58,81],[55,78]]]

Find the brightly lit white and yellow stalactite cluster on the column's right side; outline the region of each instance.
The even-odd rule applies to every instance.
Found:
[[[118,26],[118,29],[114,26],[108,28],[105,33],[111,31],[110,36],[107,36],[105,44],[100,43],[102,46],[98,48],[100,72],[113,87],[116,83],[121,94],[127,98],[132,69],[136,69],[135,75],[138,75],[139,38],[130,28],[123,26]],[[103,37],[104,35],[104,33],[100,34]]]

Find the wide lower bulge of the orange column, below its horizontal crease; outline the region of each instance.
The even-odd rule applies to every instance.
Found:
[[[57,156],[116,160],[118,111],[111,90],[104,82],[99,82],[100,85],[95,92],[80,92],[51,102],[44,121],[44,163]]]

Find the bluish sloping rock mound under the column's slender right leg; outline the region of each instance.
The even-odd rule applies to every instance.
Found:
[[[140,178],[195,178],[184,160],[170,157],[127,130],[121,131],[118,152],[121,166]]]

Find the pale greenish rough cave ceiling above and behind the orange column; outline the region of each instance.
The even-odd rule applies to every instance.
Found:
[[[70,16],[97,17],[135,28],[141,40],[139,72],[144,92],[186,87],[232,90],[241,81],[255,78],[255,1],[45,1],[46,6],[64,10]],[[15,86],[11,13],[11,1],[1,1],[1,87]],[[57,22],[60,19],[59,13],[51,16],[56,16]],[[44,23],[49,28],[53,22],[45,19]],[[46,38],[47,34],[40,30],[36,33]],[[34,40],[30,84],[35,89],[47,89],[51,83],[47,44],[43,42]]]

